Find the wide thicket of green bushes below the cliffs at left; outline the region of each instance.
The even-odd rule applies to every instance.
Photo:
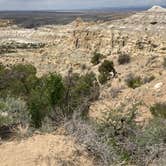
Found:
[[[32,65],[14,65],[10,69],[0,66],[0,95],[21,97],[27,103],[31,124],[40,128],[44,120],[59,122],[71,118],[78,111],[87,116],[89,105],[99,96],[99,86],[94,73],[71,73],[62,78],[56,73],[36,76]]]

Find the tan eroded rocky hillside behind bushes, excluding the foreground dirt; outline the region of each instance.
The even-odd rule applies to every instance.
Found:
[[[95,51],[100,52],[106,59],[113,60],[118,78],[101,88],[101,98],[92,106],[91,115],[100,117],[100,112],[119,107],[122,103],[132,105],[134,102],[144,101],[150,106],[166,98],[166,71],[162,65],[166,55],[165,25],[166,12],[157,8],[157,12],[153,9],[104,23],[77,19],[64,26],[0,28],[0,45],[10,41],[17,43],[15,52],[0,55],[0,62],[7,65],[31,63],[37,67],[39,75],[50,71],[65,74],[71,66],[78,73],[93,71],[98,74],[98,66],[93,66],[90,60]],[[25,45],[43,47],[27,49],[23,47]],[[130,55],[129,64],[117,63],[121,52]],[[83,69],[83,65],[86,68]],[[154,76],[155,79],[133,90],[125,83],[125,78],[131,73],[142,79],[149,76]],[[161,86],[155,89],[155,85],[159,83]],[[113,91],[118,91],[116,97],[112,95]],[[140,110],[143,112],[140,111],[142,117],[150,117],[147,107],[143,106]]]

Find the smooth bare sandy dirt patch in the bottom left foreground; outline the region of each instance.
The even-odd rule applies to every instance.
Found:
[[[27,140],[0,145],[1,166],[92,166],[93,158],[73,138],[36,135]]]

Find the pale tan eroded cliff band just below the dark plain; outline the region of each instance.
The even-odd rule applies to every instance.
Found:
[[[150,10],[104,23],[86,23],[78,19],[65,26],[45,26],[37,30],[15,26],[1,28],[0,38],[2,42],[44,43],[48,54],[54,52],[55,56],[75,51],[86,54],[98,51],[105,55],[119,51],[131,54],[142,51],[162,53],[166,47],[165,24],[165,12]]]

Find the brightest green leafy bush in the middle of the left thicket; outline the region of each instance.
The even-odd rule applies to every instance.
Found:
[[[60,75],[52,73],[38,80],[28,100],[33,126],[41,127],[44,118],[49,116],[51,111],[55,111],[55,106],[60,103],[63,94],[64,85]]]

